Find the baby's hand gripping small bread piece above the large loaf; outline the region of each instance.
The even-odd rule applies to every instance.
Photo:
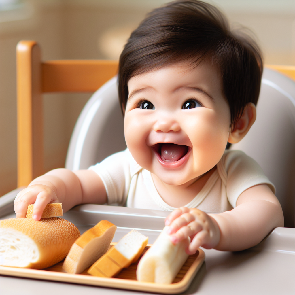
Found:
[[[14,199],[14,211],[17,217],[26,217],[28,205],[34,204],[33,219],[38,221],[49,203],[59,203],[55,188],[45,184],[33,184],[17,194]]]

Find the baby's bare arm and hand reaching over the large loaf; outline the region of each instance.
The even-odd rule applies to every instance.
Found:
[[[45,206],[62,203],[63,211],[83,203],[106,203],[106,189],[101,178],[92,170],[51,170],[34,179],[17,194],[14,211],[26,217],[29,204],[34,204],[33,219],[40,220]]]

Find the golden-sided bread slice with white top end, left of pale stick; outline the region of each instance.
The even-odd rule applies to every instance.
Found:
[[[87,271],[93,276],[110,278],[116,276],[122,268],[134,263],[148,244],[148,237],[132,230],[101,256]]]

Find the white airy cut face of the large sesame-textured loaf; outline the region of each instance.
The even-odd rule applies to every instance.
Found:
[[[28,267],[40,256],[36,243],[12,228],[0,228],[0,265]]]

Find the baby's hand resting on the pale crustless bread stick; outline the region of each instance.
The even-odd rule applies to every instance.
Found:
[[[165,219],[171,242],[176,245],[181,240],[190,237],[191,243],[186,253],[192,255],[196,250],[215,247],[220,240],[220,230],[214,218],[196,208],[180,207]]]

